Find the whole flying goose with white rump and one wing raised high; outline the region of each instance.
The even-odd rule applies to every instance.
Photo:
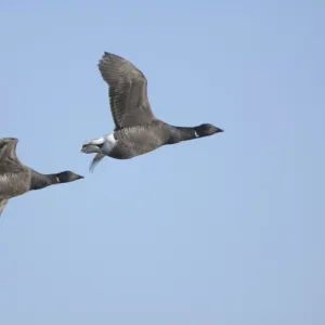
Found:
[[[174,127],[157,119],[147,98],[147,80],[128,60],[104,52],[99,62],[102,78],[108,86],[112,133],[83,143],[81,153],[93,154],[90,171],[105,157],[130,159],[162,145],[209,136],[223,132],[211,123]]]

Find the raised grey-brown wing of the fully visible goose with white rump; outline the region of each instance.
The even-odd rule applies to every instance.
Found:
[[[99,63],[109,86],[109,104],[115,130],[144,126],[155,119],[147,98],[145,76],[129,61],[105,52]]]

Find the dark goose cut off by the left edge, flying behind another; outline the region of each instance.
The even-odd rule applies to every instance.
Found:
[[[0,139],[0,216],[8,200],[28,191],[83,179],[72,171],[42,174],[24,166],[16,156],[18,139]]]

